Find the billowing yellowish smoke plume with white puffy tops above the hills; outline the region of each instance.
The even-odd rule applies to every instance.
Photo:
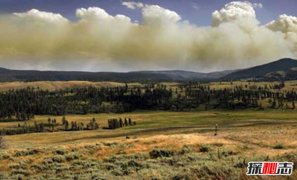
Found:
[[[230,2],[212,13],[212,25],[197,27],[158,5],[141,8],[142,23],[99,7],[76,10],[77,22],[32,9],[0,15],[0,61],[8,68],[126,71],[242,68],[296,57],[297,17],[281,15],[259,25],[254,7]]]

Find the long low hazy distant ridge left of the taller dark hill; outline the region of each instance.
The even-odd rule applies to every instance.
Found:
[[[0,68],[0,82],[13,81],[195,81],[216,80],[236,70],[212,73],[198,73],[190,71],[134,71],[119,72],[83,72],[83,71],[35,71],[10,70]]]

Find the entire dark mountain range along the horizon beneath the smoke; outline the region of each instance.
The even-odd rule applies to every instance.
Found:
[[[246,69],[225,70],[211,73],[191,71],[133,71],[120,72],[84,72],[84,71],[37,71],[10,70],[0,68],[0,82],[12,81],[222,81],[239,79],[293,80],[297,79],[297,60],[280,59],[271,63]]]

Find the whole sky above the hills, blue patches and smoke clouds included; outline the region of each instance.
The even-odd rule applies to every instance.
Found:
[[[296,0],[0,0],[11,69],[210,72],[297,56]]]

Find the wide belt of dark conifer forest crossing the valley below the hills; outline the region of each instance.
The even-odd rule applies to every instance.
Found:
[[[151,83],[137,88],[126,85],[116,88],[90,86],[54,91],[39,88],[12,89],[0,92],[0,122],[27,121],[34,119],[35,115],[123,113],[136,109],[188,111],[200,105],[205,106],[205,110],[249,108],[259,107],[260,101],[267,98],[271,108],[280,108],[283,104],[295,103],[297,100],[295,90],[270,90],[283,86],[284,83],[249,88],[233,86],[216,90],[199,83],[185,83],[177,87]],[[80,129],[81,125],[75,125],[74,122],[68,123],[68,127]]]

